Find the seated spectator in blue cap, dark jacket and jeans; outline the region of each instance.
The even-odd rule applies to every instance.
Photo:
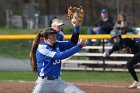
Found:
[[[113,29],[114,23],[113,18],[109,17],[108,10],[101,10],[101,18],[95,22],[92,28],[89,28],[87,34],[110,34],[110,31]],[[92,45],[91,40],[87,41],[88,45]],[[96,45],[100,45],[101,40],[96,40]]]

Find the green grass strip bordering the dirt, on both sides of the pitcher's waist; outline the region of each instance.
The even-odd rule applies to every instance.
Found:
[[[140,73],[138,73],[140,77]],[[62,71],[62,79],[66,81],[110,81],[131,82],[128,72],[86,72],[86,71]],[[24,80],[35,81],[37,78],[32,72],[0,71],[0,81]]]

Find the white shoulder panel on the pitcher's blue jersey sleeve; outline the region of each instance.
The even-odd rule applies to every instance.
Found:
[[[48,56],[48,57],[51,57],[53,58],[54,55],[56,54],[56,52],[53,52],[53,51],[50,51],[49,49],[47,49],[47,46],[46,45],[39,45],[38,46],[38,51],[45,55],[45,56]]]

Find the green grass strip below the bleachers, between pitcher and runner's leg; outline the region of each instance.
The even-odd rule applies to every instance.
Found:
[[[139,74],[140,76],[140,74]],[[62,78],[68,81],[130,81],[127,72],[64,72]]]

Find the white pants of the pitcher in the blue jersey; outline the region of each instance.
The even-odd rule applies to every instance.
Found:
[[[76,86],[66,83],[61,78],[47,80],[38,77],[32,93],[86,93]]]

